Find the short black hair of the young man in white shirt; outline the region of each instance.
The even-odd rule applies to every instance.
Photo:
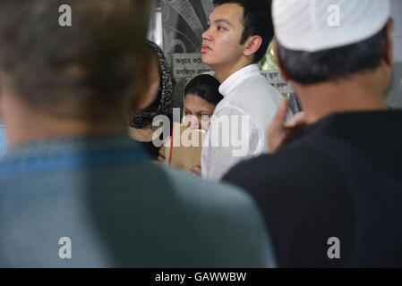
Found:
[[[274,37],[274,28],[271,16],[270,0],[214,0],[213,4],[239,4],[244,9],[243,25],[244,31],[240,44],[252,36],[260,36],[262,44],[254,54],[254,63],[258,63],[267,53],[268,46]]]

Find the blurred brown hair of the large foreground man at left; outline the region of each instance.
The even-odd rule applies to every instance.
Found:
[[[59,25],[62,4],[72,8],[71,27]],[[141,0],[1,0],[0,69],[30,105],[105,116],[134,88],[149,8]]]

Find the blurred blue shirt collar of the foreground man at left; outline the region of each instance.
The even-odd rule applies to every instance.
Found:
[[[127,164],[148,159],[140,145],[128,136],[49,139],[10,148],[0,160],[0,177],[19,172]]]

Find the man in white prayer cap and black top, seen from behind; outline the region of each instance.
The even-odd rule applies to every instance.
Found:
[[[389,1],[274,0],[276,55],[304,114],[224,177],[261,206],[282,267],[402,266],[402,111]]]

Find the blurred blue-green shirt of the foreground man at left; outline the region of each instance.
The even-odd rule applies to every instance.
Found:
[[[153,164],[126,136],[10,147],[0,210],[0,267],[275,265],[251,198]]]

